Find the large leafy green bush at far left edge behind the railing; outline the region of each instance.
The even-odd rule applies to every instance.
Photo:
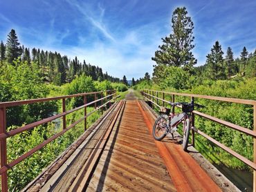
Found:
[[[0,68],[0,102],[44,98],[49,90],[40,78],[36,64],[30,66],[19,59],[16,66],[3,64]],[[11,107],[7,110],[7,125],[21,125],[44,119],[57,110],[55,102]]]

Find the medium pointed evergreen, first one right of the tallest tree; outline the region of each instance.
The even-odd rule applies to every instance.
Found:
[[[208,54],[206,60],[206,66],[208,68],[208,77],[213,80],[225,79],[225,68],[223,65],[223,51],[219,41],[216,41],[213,48],[211,48],[210,54]]]

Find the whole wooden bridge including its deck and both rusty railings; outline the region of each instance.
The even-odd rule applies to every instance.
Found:
[[[158,95],[159,94],[159,95]],[[143,97],[154,106],[164,105],[165,95],[174,93],[144,90]],[[94,101],[87,103],[87,95],[94,95]],[[162,97],[160,97],[162,95]],[[221,99],[226,102],[246,103],[254,106],[254,120],[256,124],[256,102],[243,99],[229,99],[223,97],[209,97],[202,95],[183,95],[187,97],[208,97],[205,99]],[[66,111],[65,99],[83,97],[84,105]],[[99,97],[100,99],[97,99]],[[91,127],[75,141],[55,162],[48,166],[23,191],[239,191],[237,187],[219,173],[194,148],[194,132],[208,138],[214,144],[238,157],[254,169],[255,191],[255,162],[219,144],[199,130],[192,131],[192,145],[190,153],[181,148],[179,134],[174,139],[166,137],[158,142],[152,137],[152,126],[156,113],[149,105],[135,97],[130,92],[126,99],[116,102],[116,92],[113,90],[97,93],[83,93],[63,97],[33,99],[20,102],[0,103],[0,138],[1,138],[1,191],[8,191],[7,171],[13,166],[35,153],[49,142],[55,140],[78,123],[84,121],[93,112],[105,106],[111,106]],[[22,104],[47,102],[62,99],[62,113],[39,122],[28,124],[15,130],[6,131],[6,108]],[[172,96],[174,101],[174,96]],[[226,99],[226,100],[225,100]],[[103,104],[104,102],[104,104]],[[99,106],[96,106],[100,103]],[[161,104],[160,104],[161,103]],[[86,106],[94,105],[95,110],[86,113]],[[84,117],[66,127],[66,115],[84,108]],[[216,117],[206,116],[194,111],[193,114],[212,119],[214,122],[225,124],[237,131],[256,137],[255,131],[230,124]],[[63,131],[45,140],[28,153],[21,155],[12,162],[7,161],[6,138],[23,131],[28,131],[40,124],[46,124],[62,117]],[[194,115],[193,115],[194,118]],[[194,119],[192,119],[194,120]],[[255,150],[254,139],[254,151]],[[254,152],[255,154],[255,152]],[[256,157],[255,157],[256,160]]]

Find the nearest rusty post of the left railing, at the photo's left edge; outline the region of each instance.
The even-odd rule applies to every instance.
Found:
[[[6,108],[0,108],[0,133],[6,133]],[[1,167],[7,164],[6,138],[0,142]],[[8,191],[7,171],[1,174],[1,191]]]

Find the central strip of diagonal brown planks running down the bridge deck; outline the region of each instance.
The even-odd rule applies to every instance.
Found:
[[[109,186],[113,191],[176,191],[135,101],[127,101],[87,189]]]

